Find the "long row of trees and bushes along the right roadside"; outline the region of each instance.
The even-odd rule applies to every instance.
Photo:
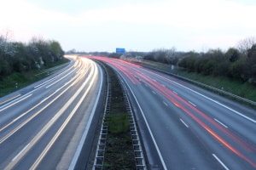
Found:
[[[144,56],[144,59],[177,65],[186,71],[206,76],[230,77],[256,85],[256,39],[249,37],[227,51],[210,49],[204,53],[176,52],[172,49],[158,49]]]

